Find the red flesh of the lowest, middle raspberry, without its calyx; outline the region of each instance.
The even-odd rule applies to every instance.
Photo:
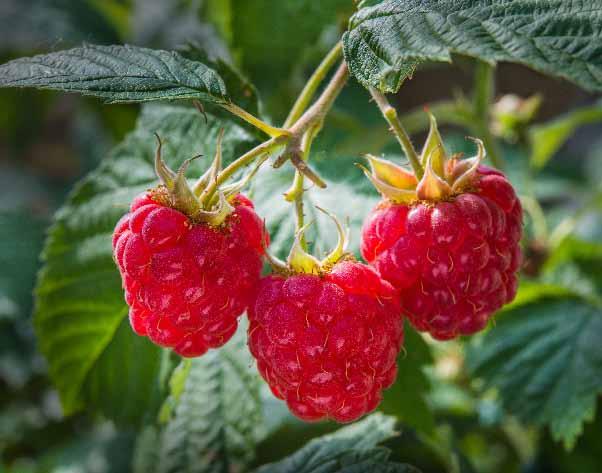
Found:
[[[395,380],[403,343],[395,289],[344,261],[323,276],[271,275],[249,306],[249,348],[261,376],[308,422],[352,422]]]

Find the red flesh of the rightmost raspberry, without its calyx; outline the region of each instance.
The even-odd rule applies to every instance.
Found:
[[[499,171],[447,202],[382,201],[362,229],[362,256],[400,291],[412,325],[438,340],[482,330],[516,294],[522,208]]]

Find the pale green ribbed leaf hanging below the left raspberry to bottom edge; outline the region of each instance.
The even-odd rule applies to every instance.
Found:
[[[264,434],[262,381],[246,345],[246,324],[227,345],[190,364],[161,435],[157,473],[246,471]]]

